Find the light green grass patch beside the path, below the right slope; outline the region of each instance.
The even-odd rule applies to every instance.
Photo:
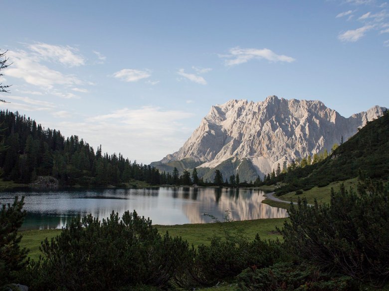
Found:
[[[319,203],[330,203],[331,200],[331,188],[334,188],[335,192],[339,191],[341,184],[345,185],[345,188],[348,190],[350,187],[353,187],[355,190],[357,189],[358,179],[349,179],[346,181],[333,182],[325,187],[314,187],[311,190],[304,191],[303,194],[296,195],[295,192],[290,192],[279,196],[282,200],[294,201],[298,200],[298,197],[306,197],[309,204],[313,204],[315,198]],[[270,204],[269,204],[270,205]],[[272,205],[273,206],[273,205]]]

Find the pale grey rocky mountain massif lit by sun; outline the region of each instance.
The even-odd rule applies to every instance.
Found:
[[[229,100],[211,107],[192,136],[175,153],[151,165],[171,172],[197,168],[204,180],[214,170],[224,179],[254,180],[292,160],[330,150],[368,121],[383,115],[374,106],[346,118],[319,100],[269,96],[264,101]]]

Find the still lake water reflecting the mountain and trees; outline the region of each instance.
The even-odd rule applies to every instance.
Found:
[[[282,218],[285,209],[261,203],[264,192],[250,189],[160,187],[149,189],[105,189],[66,191],[1,192],[0,203],[12,203],[14,196],[24,195],[27,216],[23,229],[62,228],[78,214],[92,213],[100,219],[112,210],[121,216],[134,209],[138,215],[150,217],[153,224],[206,223],[212,219],[204,213],[224,220]]]

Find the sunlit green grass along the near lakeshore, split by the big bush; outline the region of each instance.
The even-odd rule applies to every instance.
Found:
[[[282,227],[287,218],[269,218],[233,221],[223,223],[204,223],[204,224],[183,224],[183,225],[155,225],[159,232],[163,235],[169,231],[171,236],[181,236],[194,247],[200,244],[209,244],[210,239],[214,235],[223,235],[223,229],[234,231],[240,229],[243,235],[253,239],[258,233],[262,239],[282,239],[281,235],[276,231],[276,226]],[[30,250],[28,256],[37,260],[41,254],[39,251],[40,242],[46,237],[50,240],[58,235],[60,229],[49,230],[25,230],[20,231],[23,235],[20,246]]]

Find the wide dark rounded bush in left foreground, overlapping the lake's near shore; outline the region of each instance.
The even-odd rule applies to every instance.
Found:
[[[60,235],[42,243],[44,257],[25,272],[33,290],[132,290],[139,284],[166,287],[193,261],[181,238],[161,236],[151,220],[134,211],[103,221],[91,215],[72,220]]]

